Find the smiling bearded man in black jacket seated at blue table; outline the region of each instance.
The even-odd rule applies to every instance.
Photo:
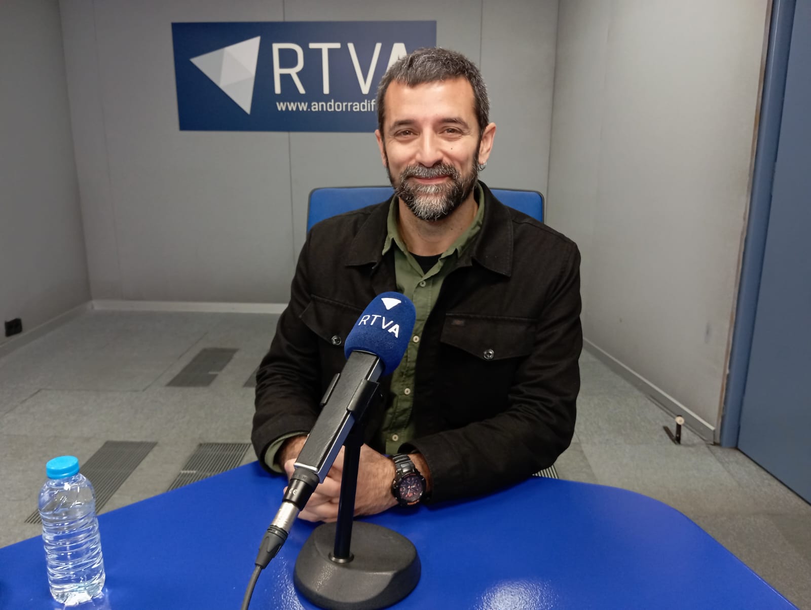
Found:
[[[252,434],[260,462],[290,476],[355,320],[375,294],[408,296],[414,336],[369,407],[358,515],[491,492],[551,466],[573,436],[582,344],[577,246],[478,182],[496,135],[478,68],[418,49],[384,75],[377,108],[395,195],[308,234],[256,374]],[[342,463],[299,517],[337,518]],[[403,491],[405,480],[416,485]]]

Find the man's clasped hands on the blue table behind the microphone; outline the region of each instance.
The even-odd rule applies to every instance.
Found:
[[[299,449],[300,450],[300,449]],[[298,453],[295,454],[298,456]],[[287,478],[293,475],[295,458],[284,462]],[[330,468],[324,483],[315,488],[307,506],[298,517],[306,521],[334,522],[338,518],[338,502],[341,495],[341,475],[344,468],[344,449],[338,453],[333,467]],[[397,505],[392,496],[392,481],[394,480],[394,462],[384,455],[377,453],[368,445],[360,450],[358,463],[358,488],[355,492],[356,517],[382,513]]]

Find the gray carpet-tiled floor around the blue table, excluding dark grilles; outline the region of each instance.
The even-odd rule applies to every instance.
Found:
[[[92,311],[0,359],[0,546],[39,533],[45,461],[87,460],[105,440],[152,449],[105,511],[165,491],[200,442],[250,438],[253,389],[277,316]],[[208,388],[166,387],[204,347],[238,350]],[[811,506],[736,449],[706,445],[594,359],[581,358],[577,429],[560,477],[676,507],[800,608],[811,610]],[[248,453],[244,462],[254,459]],[[711,578],[708,575],[708,578]]]

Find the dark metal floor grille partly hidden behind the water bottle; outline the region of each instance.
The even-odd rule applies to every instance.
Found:
[[[87,462],[79,464],[81,473],[90,479],[96,491],[96,513],[101,513],[107,500],[113,497],[155,445],[157,443],[108,440]],[[25,522],[41,523],[39,511],[31,513]]]

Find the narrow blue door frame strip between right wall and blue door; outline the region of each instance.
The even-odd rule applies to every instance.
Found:
[[[749,201],[749,219],[741,260],[735,323],[732,329],[727,390],[721,416],[719,443],[723,447],[738,446],[740,411],[749,372],[757,298],[760,293],[763,255],[766,250],[766,233],[769,229],[771,193],[780,125],[783,119],[783,97],[786,91],[788,54],[792,43],[795,8],[796,0],[774,0],[772,3],[760,123],[757,127],[757,146],[753,165],[752,195]]]

